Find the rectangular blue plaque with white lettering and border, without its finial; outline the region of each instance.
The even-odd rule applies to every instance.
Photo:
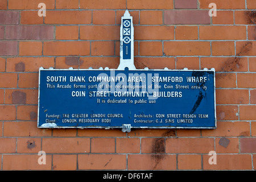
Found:
[[[40,69],[38,127],[216,128],[215,71]]]

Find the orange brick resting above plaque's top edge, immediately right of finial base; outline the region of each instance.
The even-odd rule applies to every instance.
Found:
[[[174,57],[135,57],[134,65],[137,69],[175,69]]]

